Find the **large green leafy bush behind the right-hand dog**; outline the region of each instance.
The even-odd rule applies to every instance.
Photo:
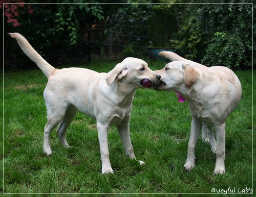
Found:
[[[252,5],[207,4],[188,6],[171,40],[186,58],[207,66],[252,66]]]

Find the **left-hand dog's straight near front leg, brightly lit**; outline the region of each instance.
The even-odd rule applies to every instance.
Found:
[[[110,163],[110,153],[108,146],[108,130],[109,125],[103,125],[97,121],[98,138],[100,145],[100,156],[102,162],[102,174],[114,173]]]

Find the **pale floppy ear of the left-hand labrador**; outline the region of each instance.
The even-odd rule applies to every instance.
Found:
[[[123,64],[119,63],[115,66],[115,68],[108,72],[106,76],[106,84],[110,86],[115,79],[121,80],[128,73],[128,69],[123,66]]]

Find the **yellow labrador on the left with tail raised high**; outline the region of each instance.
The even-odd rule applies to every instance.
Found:
[[[25,37],[18,33],[9,35],[17,40],[24,53],[48,78],[44,91],[47,107],[44,152],[47,155],[52,154],[50,134],[57,125],[61,144],[69,147],[66,131],[79,110],[96,119],[102,174],[114,173],[108,148],[108,130],[111,125],[117,126],[125,154],[135,159],[129,128],[135,90],[155,87],[161,76],[137,58],[124,59],[108,73],[84,68],[56,69],[34,50]],[[139,162],[144,164],[143,161]]]

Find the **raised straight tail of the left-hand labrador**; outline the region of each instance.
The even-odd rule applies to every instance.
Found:
[[[51,73],[55,70],[53,66],[51,66],[44,58],[42,58],[30,45],[28,40],[18,33],[9,33],[12,38],[15,38],[22,48],[22,51],[33,61],[36,65],[41,69],[41,71],[45,74],[47,79],[51,75]]]

